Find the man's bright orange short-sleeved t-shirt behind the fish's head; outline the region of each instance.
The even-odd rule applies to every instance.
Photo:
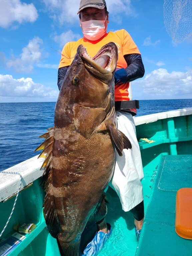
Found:
[[[109,32],[103,38],[97,41],[88,41],[85,38],[80,38],[76,42],[66,43],[62,50],[62,57],[59,63],[59,68],[71,65],[77,52],[77,47],[80,44],[83,44],[89,56],[93,58],[101,49],[101,47],[103,47],[105,44],[109,42],[114,42],[118,48],[117,69],[127,67],[127,63],[123,55],[133,53],[140,54],[139,49],[137,48],[129,33],[126,30],[121,29],[116,32]],[[115,101],[129,100],[128,88],[129,82],[116,85]]]

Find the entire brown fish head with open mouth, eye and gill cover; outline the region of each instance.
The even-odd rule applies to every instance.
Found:
[[[79,45],[67,70],[55,108],[55,126],[74,120],[76,130],[89,138],[114,107],[114,73],[118,60],[115,43],[104,45],[91,58]]]

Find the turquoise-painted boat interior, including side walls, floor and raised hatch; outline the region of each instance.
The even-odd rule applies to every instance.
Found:
[[[189,173],[192,166],[191,127],[192,115],[165,118],[136,126],[138,140],[140,138],[155,140],[150,144],[139,142],[144,169],[142,184],[145,205],[141,238],[138,243],[133,216],[122,210],[118,196],[109,186],[106,192],[109,201],[106,219],[111,224],[113,233],[99,256],[192,255],[191,241],[180,238],[174,229],[176,190],[186,184],[181,183],[185,176],[183,159],[188,157],[190,159],[187,163]],[[171,171],[174,166],[177,173],[175,180]],[[185,181],[187,186],[192,187],[191,175]],[[56,239],[46,230],[42,214],[45,194],[40,183],[41,178],[19,194],[3,238],[13,234],[13,225],[18,223],[35,223],[37,228],[26,235],[26,239],[9,256],[60,255]],[[15,197],[0,203],[0,231],[11,213],[14,200]]]

